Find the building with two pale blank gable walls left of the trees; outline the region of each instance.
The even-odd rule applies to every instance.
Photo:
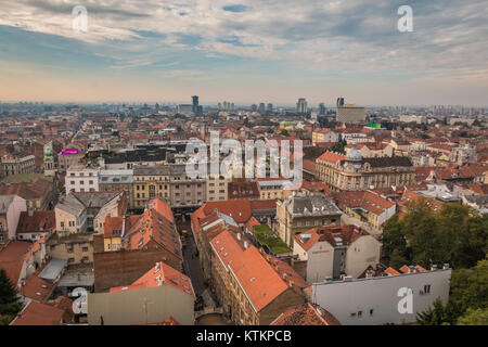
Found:
[[[358,278],[380,262],[381,243],[356,226],[318,227],[295,235],[293,253],[304,261],[307,283]]]

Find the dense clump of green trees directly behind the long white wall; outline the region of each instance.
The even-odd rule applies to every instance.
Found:
[[[445,262],[457,269],[471,268],[488,252],[488,215],[476,215],[458,203],[433,211],[428,201],[421,198],[408,206],[401,220],[393,217],[382,237],[383,256],[394,268]]]

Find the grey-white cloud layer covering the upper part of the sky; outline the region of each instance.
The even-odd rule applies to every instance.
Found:
[[[483,0],[411,0],[413,33],[397,30],[399,0],[91,0],[81,2],[86,34],[72,29],[79,3],[9,1],[0,25],[86,42],[116,69],[172,59],[184,65],[187,54],[208,59],[205,64],[232,56],[283,62],[317,76],[486,78],[488,69]]]

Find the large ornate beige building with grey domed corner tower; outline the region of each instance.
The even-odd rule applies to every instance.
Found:
[[[358,191],[415,183],[408,157],[363,158],[354,146],[347,155],[325,152],[316,160],[316,177],[332,191]]]

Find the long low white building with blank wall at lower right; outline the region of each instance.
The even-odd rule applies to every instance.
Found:
[[[395,270],[394,270],[395,271]],[[397,272],[398,273],[398,272]],[[437,298],[449,299],[451,269],[312,284],[311,298],[344,325],[415,321]]]

